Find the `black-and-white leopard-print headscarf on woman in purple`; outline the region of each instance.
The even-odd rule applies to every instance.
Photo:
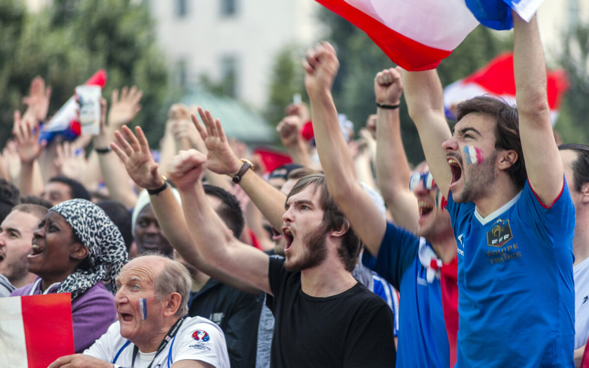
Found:
[[[96,283],[112,281],[129,260],[125,241],[107,214],[94,203],[68,200],[49,208],[65,218],[88,247],[88,270],[78,268],[59,285],[58,293],[71,293],[74,300]]]

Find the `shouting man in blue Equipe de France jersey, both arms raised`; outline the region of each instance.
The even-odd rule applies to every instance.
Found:
[[[458,106],[451,135],[435,71],[405,97],[458,251],[458,367],[573,366],[575,211],[552,135],[535,17],[513,13],[518,109]]]

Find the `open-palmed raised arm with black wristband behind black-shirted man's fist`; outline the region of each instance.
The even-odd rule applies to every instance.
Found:
[[[112,149],[121,158],[127,173],[135,183],[151,190],[160,188],[164,184],[164,178],[158,172],[158,164],[155,163],[151,156],[147,138],[145,138],[140,127],[135,128],[135,133],[137,137],[133,135],[129,128],[123,126],[121,131],[115,132],[117,143],[112,144]],[[190,236],[182,208],[174,198],[171,190],[164,190],[158,195],[151,195],[150,202],[158,224],[166,234],[170,244],[180,253],[184,260],[213,277],[213,279],[221,281],[221,283],[246,291],[246,293],[257,294],[260,292],[249,284],[229,276],[229,274],[204,261]]]

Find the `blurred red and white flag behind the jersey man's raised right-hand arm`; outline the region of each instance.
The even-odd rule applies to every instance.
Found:
[[[552,125],[558,116],[562,95],[568,88],[567,74],[558,69],[547,71],[548,105]],[[489,64],[464,79],[444,88],[444,107],[449,118],[455,118],[456,105],[469,98],[494,94],[515,105],[514,56],[512,52],[498,55]]]

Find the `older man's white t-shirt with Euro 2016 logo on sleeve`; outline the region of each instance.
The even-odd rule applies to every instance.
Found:
[[[104,360],[108,363],[116,363],[130,367],[133,361],[133,347],[130,343],[123,349],[127,339],[121,336],[121,327],[118,321],[108,327],[108,331],[96,340],[84,354]],[[122,350],[121,350],[122,349]],[[170,353],[171,349],[171,353]],[[120,355],[114,361],[117,353]],[[229,355],[227,343],[220,327],[203,317],[187,317],[176,336],[168,342],[164,350],[155,357],[152,368],[169,368],[168,356],[171,354],[172,364],[178,360],[200,360],[209,363],[216,368],[229,368]],[[135,358],[135,368],[145,368],[154,359],[153,353],[139,353]],[[158,365],[159,364],[159,365]]]

